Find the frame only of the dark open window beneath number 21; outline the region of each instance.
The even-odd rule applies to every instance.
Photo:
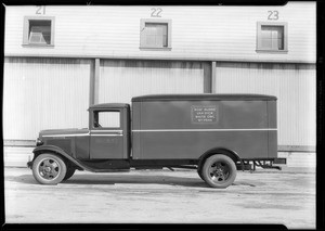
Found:
[[[51,22],[51,43],[32,43],[29,42],[29,21],[50,21]],[[26,47],[54,47],[54,26],[55,17],[54,16],[25,16],[24,17],[24,31],[23,31],[23,46]]]

